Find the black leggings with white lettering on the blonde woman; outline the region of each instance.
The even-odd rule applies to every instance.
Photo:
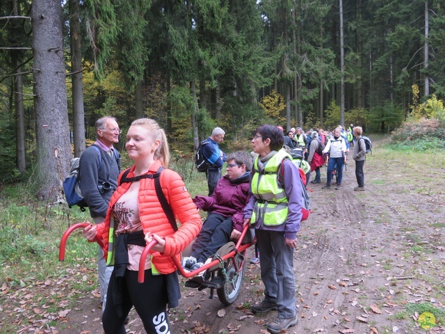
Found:
[[[164,275],[152,275],[152,270],[145,271],[144,283],[138,283],[138,271],[125,271],[122,284],[122,317],[113,305],[113,286],[115,276],[111,275],[106,297],[106,306],[102,323],[106,334],[125,334],[124,322],[131,307],[134,306],[143,321],[148,334],[168,334],[170,326],[167,318],[167,287]]]

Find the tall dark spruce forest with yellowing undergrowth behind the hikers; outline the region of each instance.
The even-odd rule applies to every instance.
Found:
[[[265,122],[389,133],[412,114],[443,114],[444,5],[3,0],[2,180],[33,175],[38,198],[60,198],[72,150],[104,115],[124,133],[154,118],[191,157],[215,126],[232,150]]]

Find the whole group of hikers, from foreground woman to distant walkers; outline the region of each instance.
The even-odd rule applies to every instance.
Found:
[[[252,312],[277,310],[277,317],[267,324],[270,333],[295,326],[298,316],[293,253],[305,216],[302,175],[307,175],[299,168],[305,165],[315,170],[318,176],[312,183],[320,183],[323,154],[330,152],[325,185],[330,187],[330,167],[337,164],[337,169],[341,168],[340,159],[349,147],[341,129],[335,129],[322,145],[323,130],[312,131],[309,141],[300,128],[295,135],[284,136],[280,127],[261,125],[252,137],[250,154],[237,151],[226,156],[219,148],[225,132],[216,127],[202,145],[209,194],[195,198],[191,198],[181,177],[168,169],[168,141],[156,121],[141,118],[131,123],[125,148],[134,164],[124,171],[120,170],[120,154],[113,148],[120,133],[115,118],[97,120],[95,148],[83,152],[79,165],[79,184],[93,221],[83,235],[90,242],[103,242],[98,269],[105,333],[126,333],[132,307],[147,333],[171,333],[167,308],[177,307],[180,298],[172,257],[188,270],[199,269],[227,241],[239,239],[247,225],[256,235],[259,255],[255,257],[259,257],[265,286],[264,299],[252,305]],[[362,129],[354,127],[353,133],[359,138]],[[324,146],[321,152],[318,145]],[[354,149],[354,157],[361,157],[358,148],[362,143],[357,139],[355,147],[358,153]],[[297,164],[296,154],[300,158]],[[223,166],[227,172],[224,176]],[[110,185],[107,191],[100,186],[104,182]],[[339,172],[336,189],[340,186]],[[359,186],[363,188],[364,184]],[[179,221],[179,228],[169,221],[164,200]],[[200,209],[209,212],[204,223]],[[145,281],[138,283],[139,260],[152,241],[156,244],[145,262]],[[191,243],[191,255],[181,259],[181,252]]]

